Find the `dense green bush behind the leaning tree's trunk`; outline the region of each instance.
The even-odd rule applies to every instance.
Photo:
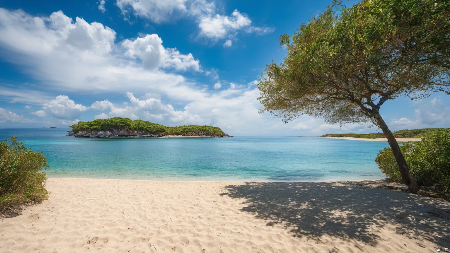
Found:
[[[421,141],[405,142],[400,149],[420,185],[450,193],[450,130],[430,131]],[[375,162],[392,181],[402,181],[390,148],[381,150]]]

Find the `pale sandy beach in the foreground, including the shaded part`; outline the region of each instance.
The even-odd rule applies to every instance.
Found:
[[[0,252],[420,253],[450,247],[450,203],[376,186],[50,178],[48,200],[0,220]]]

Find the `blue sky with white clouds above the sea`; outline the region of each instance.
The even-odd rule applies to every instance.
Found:
[[[380,131],[259,113],[257,81],[330,0],[0,0],[0,128],[129,117],[234,136]],[[356,1],[344,1],[351,6]],[[392,130],[450,127],[450,97],[388,101]]]

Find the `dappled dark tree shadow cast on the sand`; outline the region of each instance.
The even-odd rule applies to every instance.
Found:
[[[388,225],[397,234],[448,248],[450,203],[372,182],[248,182],[227,185],[221,195],[242,198],[247,207],[241,211],[270,220],[268,226],[280,223],[294,236],[331,235],[375,245],[379,237],[372,231]]]

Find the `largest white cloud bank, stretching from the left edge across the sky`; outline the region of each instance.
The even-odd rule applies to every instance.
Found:
[[[178,90],[178,97],[187,100],[203,95],[183,76],[161,70],[202,71],[192,54],[164,48],[157,35],[115,43],[116,33],[101,23],[82,18],[74,22],[61,11],[36,17],[1,8],[0,34],[3,59],[23,66],[27,74],[51,90],[65,92],[76,87],[78,92],[91,94],[142,89],[168,94]],[[2,93],[37,104],[51,99],[28,91],[5,89]]]

